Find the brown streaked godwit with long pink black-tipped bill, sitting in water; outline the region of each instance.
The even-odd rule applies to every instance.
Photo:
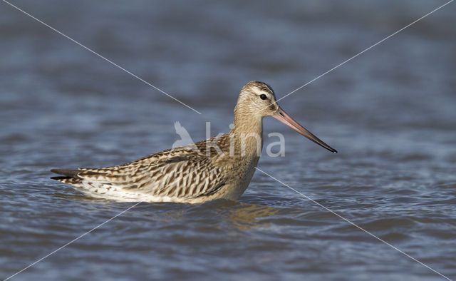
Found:
[[[241,90],[229,133],[106,168],[51,170],[61,183],[94,198],[202,203],[237,200],[254,175],[263,146],[263,118],[272,116],[314,143],[337,151],[299,125],[276,103],[272,88],[252,81]]]

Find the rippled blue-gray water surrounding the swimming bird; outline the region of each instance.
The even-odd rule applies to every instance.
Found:
[[[240,88],[278,98],[445,1],[0,2],[0,277],[129,208],[50,180],[227,132]],[[456,4],[279,103],[259,168],[456,279]],[[268,145],[276,138],[266,138]],[[445,280],[257,172],[237,202],[141,203],[11,280]]]

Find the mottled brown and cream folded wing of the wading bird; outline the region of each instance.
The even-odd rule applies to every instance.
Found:
[[[224,185],[223,173],[202,155],[175,155],[108,168],[81,168],[78,178],[155,196],[197,198],[216,193]]]

